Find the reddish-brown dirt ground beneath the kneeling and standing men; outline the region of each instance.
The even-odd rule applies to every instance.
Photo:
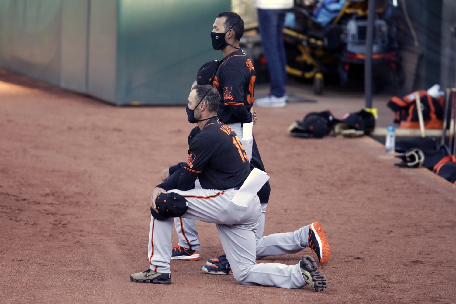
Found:
[[[288,136],[310,111],[342,116],[363,100],[289,91],[317,102],[256,109],[272,186],[265,234],[322,222],[332,249],[319,267],[326,293],[203,273],[206,259],[222,254],[215,226],[203,222],[200,261],[172,261],[171,285],[131,282],[149,267],[152,189],[161,170],[187,158],[183,106],[119,108],[0,71],[1,302],[456,303],[455,186],[426,169],[394,167],[368,137]],[[258,262],[291,265],[302,254],[316,257],[306,248]]]

